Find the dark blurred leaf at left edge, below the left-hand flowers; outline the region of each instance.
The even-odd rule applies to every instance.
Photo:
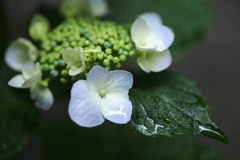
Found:
[[[39,110],[32,102],[26,101],[29,93],[25,95],[24,92],[13,91],[0,82],[0,159],[24,147],[39,118]]]

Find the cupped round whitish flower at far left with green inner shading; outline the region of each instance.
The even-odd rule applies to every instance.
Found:
[[[15,71],[21,71],[26,62],[37,59],[36,47],[27,39],[19,38],[7,48],[5,61]]]

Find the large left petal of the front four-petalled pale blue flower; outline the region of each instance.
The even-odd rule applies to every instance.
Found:
[[[79,80],[73,84],[68,113],[80,126],[94,127],[104,122],[100,111],[101,97],[98,92],[89,91],[87,82]]]

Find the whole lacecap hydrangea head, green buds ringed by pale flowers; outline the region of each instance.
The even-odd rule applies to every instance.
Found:
[[[107,13],[104,0],[84,3],[94,8],[94,16]],[[94,4],[102,6],[100,11]],[[138,55],[137,63],[147,73],[162,71],[172,61],[168,47],[174,34],[156,13],[142,14],[132,25],[68,16],[51,31],[49,28],[49,21],[37,14],[29,27],[34,43],[19,38],[9,45],[5,61],[20,73],[8,84],[29,88],[35,105],[47,110],[54,102],[49,89],[51,80],[73,83],[69,115],[80,126],[98,126],[105,119],[118,124],[130,120],[132,103],[128,92],[133,77],[128,71],[114,70],[129,57]]]

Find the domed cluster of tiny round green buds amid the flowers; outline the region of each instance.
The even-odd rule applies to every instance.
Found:
[[[85,79],[95,65],[107,70],[120,68],[127,57],[135,55],[130,25],[116,25],[91,18],[67,19],[46,34],[40,43],[41,70],[51,77],[60,76],[62,83],[69,79],[70,70],[77,70],[83,65],[85,69],[79,74],[70,74],[73,81]],[[71,55],[74,50],[76,56],[74,53]],[[65,58],[64,54],[71,57]],[[73,64],[76,65],[73,67]]]

